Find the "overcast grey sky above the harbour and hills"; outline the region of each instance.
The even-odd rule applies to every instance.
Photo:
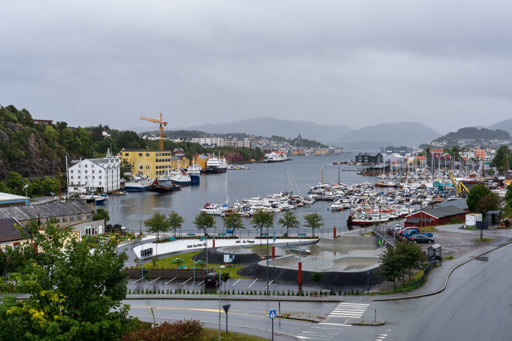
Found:
[[[0,2],[0,103],[73,126],[512,118],[509,1]]]

